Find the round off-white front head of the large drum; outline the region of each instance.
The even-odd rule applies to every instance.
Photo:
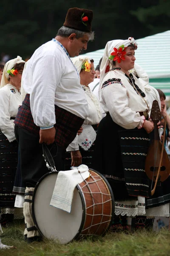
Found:
[[[58,172],[50,172],[37,183],[33,194],[32,213],[36,227],[43,236],[66,244],[76,238],[82,229],[85,206],[78,189],[74,189],[71,213],[50,206],[57,175]]]

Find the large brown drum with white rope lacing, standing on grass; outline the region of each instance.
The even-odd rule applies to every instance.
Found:
[[[50,206],[58,172],[49,172],[37,183],[32,213],[40,234],[66,244],[83,236],[103,236],[110,228],[114,215],[113,192],[99,172],[74,189],[71,213]]]

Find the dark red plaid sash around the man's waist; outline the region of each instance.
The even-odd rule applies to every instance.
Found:
[[[76,137],[77,131],[84,122],[84,119],[66,111],[63,108],[59,108],[57,105],[55,105],[55,115],[55,140],[60,147],[67,148]],[[23,101],[23,105],[18,110],[14,124],[34,134],[39,134],[40,127],[34,124],[31,114],[29,94],[26,94],[26,98]]]

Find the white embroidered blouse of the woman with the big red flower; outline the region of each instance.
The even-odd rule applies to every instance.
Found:
[[[135,83],[145,93],[144,86],[133,75]],[[102,81],[100,103],[105,113],[109,112],[113,121],[125,129],[136,128],[143,122],[139,112],[150,111],[150,102],[142,98],[121,70],[110,71]],[[147,103],[146,103],[147,102]],[[148,107],[149,109],[148,109]]]

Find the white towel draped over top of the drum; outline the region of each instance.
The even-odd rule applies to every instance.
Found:
[[[89,169],[84,164],[72,167],[72,170],[69,171],[60,171],[57,175],[50,205],[70,213],[74,189],[77,184],[82,183],[88,177]]]

